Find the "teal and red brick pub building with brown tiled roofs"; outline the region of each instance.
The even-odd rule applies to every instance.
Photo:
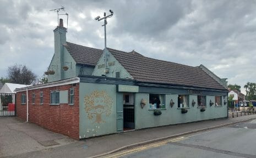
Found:
[[[53,31],[48,83],[15,90],[19,118],[82,139],[227,117],[226,79],[204,65],[80,46],[66,31]]]

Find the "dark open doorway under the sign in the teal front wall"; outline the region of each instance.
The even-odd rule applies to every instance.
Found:
[[[123,93],[123,131],[134,129],[134,93]]]

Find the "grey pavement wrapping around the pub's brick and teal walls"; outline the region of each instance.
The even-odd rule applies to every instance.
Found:
[[[15,117],[0,118],[0,157],[99,157],[140,145],[256,119],[256,115],[183,123],[73,140]],[[57,144],[56,144],[57,143]]]

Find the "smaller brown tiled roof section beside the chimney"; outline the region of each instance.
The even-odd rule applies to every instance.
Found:
[[[103,50],[81,46],[67,42],[65,46],[77,64],[95,66],[100,59]]]

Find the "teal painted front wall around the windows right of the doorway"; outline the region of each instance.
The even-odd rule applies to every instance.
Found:
[[[186,114],[181,114],[181,109],[177,108],[177,94],[166,94],[165,98],[166,110],[161,110],[162,114],[155,116],[154,110],[149,110],[149,93],[135,93],[135,129],[209,120],[227,116],[227,105],[224,105],[223,97],[223,106],[210,106],[210,100],[215,103],[215,96],[206,96],[206,110],[201,112],[197,105],[197,95],[189,95],[189,109]],[[141,99],[146,100],[146,105],[143,109],[140,106]],[[170,106],[171,99],[175,102],[172,108]],[[196,102],[194,107],[192,106],[192,100]]]

